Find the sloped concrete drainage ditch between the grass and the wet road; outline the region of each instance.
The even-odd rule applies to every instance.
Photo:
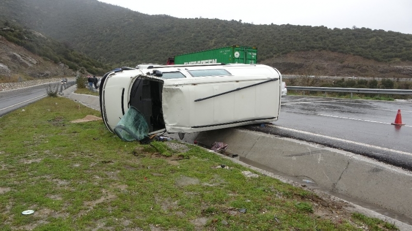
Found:
[[[289,176],[301,184],[343,195],[344,200],[352,199],[366,207],[375,205],[375,210],[388,210],[380,211],[384,215],[412,224],[412,174],[403,169],[362,155],[241,128],[186,135],[182,141],[196,140],[206,147],[215,141],[224,142],[228,144],[228,156],[264,170],[274,169],[275,174]]]

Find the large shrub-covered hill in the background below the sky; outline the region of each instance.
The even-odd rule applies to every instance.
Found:
[[[111,66],[242,45],[284,74],[412,77],[412,35],[394,31],[145,15],[97,0],[3,0],[0,15]]]

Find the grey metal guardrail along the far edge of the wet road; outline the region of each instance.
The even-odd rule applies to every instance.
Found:
[[[287,86],[287,90],[314,91],[314,92],[350,92],[353,93],[375,93],[375,94],[412,94],[412,90],[403,89],[369,89],[369,88],[323,88],[323,87],[292,87]],[[304,92],[303,92],[304,94]]]

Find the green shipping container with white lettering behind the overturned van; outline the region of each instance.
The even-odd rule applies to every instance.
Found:
[[[174,64],[257,63],[257,48],[226,46],[174,56]]]

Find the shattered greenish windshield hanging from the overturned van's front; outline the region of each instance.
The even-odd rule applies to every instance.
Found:
[[[114,127],[114,132],[124,141],[142,140],[149,133],[149,126],[143,114],[131,106]]]

